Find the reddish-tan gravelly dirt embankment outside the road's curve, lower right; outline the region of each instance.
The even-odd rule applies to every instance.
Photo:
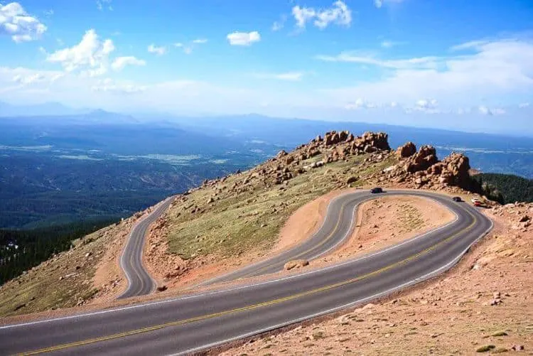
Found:
[[[486,212],[495,230],[438,279],[222,355],[530,355],[533,204]]]

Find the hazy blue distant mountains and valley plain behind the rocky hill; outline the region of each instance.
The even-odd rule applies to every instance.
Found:
[[[205,178],[255,166],[332,130],[385,131],[393,148],[406,141],[431,144],[440,158],[459,151],[479,171],[533,178],[529,137],[259,114],[173,117],[69,110],[75,109],[0,104],[0,112],[12,113],[0,117],[0,227],[127,216]]]

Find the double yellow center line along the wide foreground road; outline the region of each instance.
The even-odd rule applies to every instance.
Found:
[[[206,320],[206,319],[210,319],[210,318],[217,318],[217,317],[220,317],[220,316],[223,316],[223,315],[228,315],[228,314],[232,314],[232,313],[239,313],[239,312],[242,312],[242,311],[249,311],[249,310],[253,310],[253,309],[257,309],[257,308],[262,308],[264,306],[271,306],[271,305],[274,305],[274,304],[282,303],[282,302],[285,302],[285,301],[291,301],[291,300],[294,300],[296,298],[302,298],[304,296],[309,296],[309,295],[320,293],[320,292],[323,292],[323,291],[329,291],[331,289],[339,288],[341,286],[346,286],[348,284],[353,284],[353,283],[355,283],[357,281],[362,281],[363,279],[368,279],[371,276],[376,276],[377,274],[382,274],[383,272],[389,271],[390,269],[393,269],[394,267],[401,266],[402,264],[406,264],[407,262],[412,261],[412,260],[416,259],[417,257],[420,257],[422,254],[427,254],[428,252],[433,251],[434,249],[436,249],[441,244],[445,244],[446,242],[451,241],[451,239],[453,239],[454,237],[458,236],[459,234],[462,234],[463,232],[471,230],[473,228],[473,226],[475,225],[475,222],[478,221],[478,219],[472,213],[470,213],[468,210],[465,210],[465,212],[468,212],[468,215],[473,217],[474,220],[473,220],[473,222],[470,225],[468,225],[468,227],[465,227],[463,230],[461,230],[459,232],[456,232],[455,234],[452,234],[450,237],[447,237],[446,239],[443,239],[441,242],[438,242],[438,243],[434,244],[433,246],[431,246],[431,247],[429,247],[427,249],[424,249],[423,251],[421,251],[421,252],[419,252],[417,254],[414,254],[414,255],[412,255],[410,257],[407,257],[406,259],[403,259],[402,261],[395,262],[394,264],[390,264],[389,266],[385,266],[385,267],[383,267],[381,269],[377,269],[376,271],[372,271],[370,273],[363,274],[362,276],[357,276],[355,278],[348,279],[347,281],[340,281],[338,283],[330,284],[328,286],[323,286],[323,287],[320,287],[320,288],[311,289],[310,291],[296,293],[296,294],[291,295],[291,296],[286,296],[286,297],[283,297],[283,298],[277,298],[277,299],[274,299],[272,301],[265,301],[265,302],[262,302],[262,303],[253,304],[251,306],[244,306],[244,307],[241,307],[241,308],[235,308],[235,309],[231,309],[229,311],[220,311],[220,312],[211,313],[211,314],[208,314],[208,315],[196,316],[194,318],[188,318],[188,319],[184,319],[184,320],[176,320],[176,321],[172,321],[170,323],[164,323],[164,324],[160,324],[160,325],[149,326],[147,328],[129,330],[129,331],[126,331],[124,333],[117,333],[117,334],[114,334],[114,335],[102,336],[102,337],[99,337],[99,338],[92,338],[92,339],[87,339],[87,340],[82,340],[82,341],[70,342],[70,343],[66,343],[66,344],[63,344],[63,345],[45,347],[45,348],[40,349],[40,350],[35,350],[35,351],[31,351],[31,352],[23,352],[23,353],[21,353],[19,355],[37,355],[37,354],[43,353],[43,352],[53,352],[53,351],[58,351],[58,350],[64,350],[64,349],[67,349],[67,348],[70,348],[70,347],[78,347],[78,346],[92,344],[92,343],[95,343],[95,342],[103,342],[103,341],[107,341],[107,340],[114,340],[114,339],[117,339],[117,338],[124,338],[126,336],[137,335],[137,334],[141,334],[141,333],[148,333],[150,331],[161,330],[163,328],[168,328],[168,327],[171,327],[171,326],[184,325],[184,324],[188,324],[188,323],[193,323],[195,321]]]

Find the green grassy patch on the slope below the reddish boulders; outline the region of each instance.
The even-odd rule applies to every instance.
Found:
[[[328,163],[296,176],[286,185],[268,188],[252,178],[248,190],[238,195],[230,192],[230,188],[252,171],[230,176],[215,187],[197,190],[168,210],[170,252],[188,259],[201,254],[227,257],[250,249],[266,251],[298,207],[335,188],[348,187],[345,182],[351,176],[361,176],[352,187],[364,185],[370,175],[397,162],[393,155],[377,163],[365,162],[369,156],[351,156],[348,161]],[[302,161],[301,166],[317,159]],[[215,201],[208,203],[215,194]],[[202,212],[192,212],[195,207]]]

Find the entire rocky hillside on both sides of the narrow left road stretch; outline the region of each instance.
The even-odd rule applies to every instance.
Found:
[[[384,133],[327,132],[178,195],[151,228],[145,264],[172,293],[271,253],[289,217],[321,195],[373,185],[460,192],[468,188],[468,168],[465,156],[439,161],[430,146],[416,151],[408,143],[393,151]],[[9,300],[1,315],[112,301],[124,286],[116,260],[134,219],[81,239],[75,250],[1,286],[0,300]]]

